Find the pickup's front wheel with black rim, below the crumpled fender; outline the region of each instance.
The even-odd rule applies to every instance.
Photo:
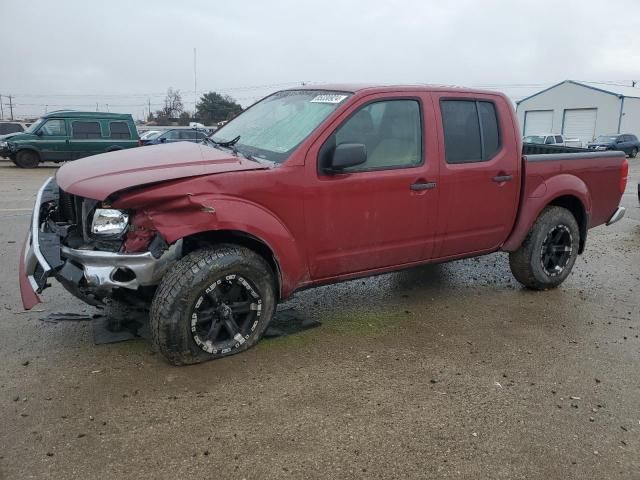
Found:
[[[164,276],[151,303],[154,347],[174,365],[205,362],[255,345],[276,309],[274,274],[236,245],[190,253]]]

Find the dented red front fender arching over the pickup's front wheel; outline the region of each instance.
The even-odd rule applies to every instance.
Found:
[[[119,202],[114,206],[120,207]],[[275,257],[282,298],[287,298],[309,278],[305,256],[285,223],[263,206],[243,198],[183,195],[157,207],[139,209],[133,223],[157,230],[169,244],[216,230],[233,230],[255,237]]]

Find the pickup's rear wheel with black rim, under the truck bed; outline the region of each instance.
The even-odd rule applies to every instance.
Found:
[[[571,273],[578,257],[580,230],[562,207],[545,208],[520,248],[509,254],[513,276],[532,290],[556,288]]]

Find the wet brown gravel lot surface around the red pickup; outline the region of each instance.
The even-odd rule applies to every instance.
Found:
[[[322,326],[176,368],[93,344],[17,257],[54,168],[0,162],[0,478],[640,478],[640,160],[558,290],[505,255],[302,292]]]

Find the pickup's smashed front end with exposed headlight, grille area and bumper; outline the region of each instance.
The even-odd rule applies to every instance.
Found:
[[[63,191],[54,178],[42,185],[20,258],[25,309],[40,302],[38,294],[50,286],[51,277],[90,305],[119,293],[135,295],[160,282],[181,256],[181,242],[168,246],[157,232],[136,232],[130,212],[117,212]],[[131,253],[127,244],[134,243]]]

